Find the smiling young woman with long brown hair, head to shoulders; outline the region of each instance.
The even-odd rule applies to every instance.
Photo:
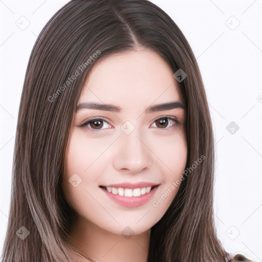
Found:
[[[3,261],[250,261],[213,221],[214,141],[195,57],[145,0],[73,0],[21,96]]]

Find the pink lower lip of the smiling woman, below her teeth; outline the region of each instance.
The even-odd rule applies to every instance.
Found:
[[[139,207],[147,203],[153,197],[153,195],[158,189],[158,186],[150,190],[149,193],[141,194],[140,197],[125,197],[124,195],[110,193],[104,188],[101,189],[105,192],[108,198],[112,199],[121,206]]]

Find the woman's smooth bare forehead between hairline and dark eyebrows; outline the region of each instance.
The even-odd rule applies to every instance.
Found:
[[[143,49],[99,60],[85,81],[79,103],[100,101],[134,110],[134,106],[181,101],[173,72],[157,53]]]

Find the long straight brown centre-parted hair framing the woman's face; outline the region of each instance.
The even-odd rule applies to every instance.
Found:
[[[187,74],[179,83],[186,107],[186,167],[206,157],[184,174],[170,207],[151,228],[147,261],[228,261],[213,222],[214,141],[198,64],[174,21],[146,0],[73,0],[38,36],[20,100],[3,261],[81,258],[67,242],[76,213],[61,190],[69,130],[94,64],[137,47],[157,52],[174,73]],[[18,237],[17,231],[25,235],[26,229],[29,235]]]

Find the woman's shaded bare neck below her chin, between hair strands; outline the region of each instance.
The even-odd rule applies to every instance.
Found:
[[[150,230],[124,236],[104,230],[79,216],[72,225],[70,244],[95,262],[146,262]]]

